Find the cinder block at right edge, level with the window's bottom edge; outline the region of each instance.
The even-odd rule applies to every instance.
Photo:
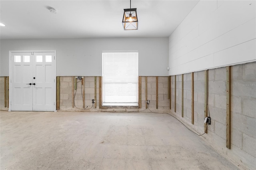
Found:
[[[256,99],[242,99],[242,114],[256,118]]]

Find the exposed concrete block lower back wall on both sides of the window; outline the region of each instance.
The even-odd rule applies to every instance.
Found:
[[[143,111],[146,109],[146,81],[142,76],[142,107],[102,107],[99,109],[99,77],[97,77],[97,99],[96,109],[92,107],[92,99],[94,99],[94,77],[86,76],[85,79],[85,109],[83,109],[83,99],[81,89],[82,83],[77,80],[77,90],[74,98],[75,107],[72,108],[72,77],[60,77],[60,110],[61,111]],[[168,77],[158,77],[158,109],[156,109],[156,77],[147,77],[147,100],[150,100],[148,108],[153,112],[166,112],[169,111],[168,99]],[[91,109],[90,109],[91,108]],[[149,111],[149,110],[147,110]]]

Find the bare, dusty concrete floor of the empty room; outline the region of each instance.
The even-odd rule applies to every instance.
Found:
[[[167,114],[1,111],[0,169],[236,170]]]

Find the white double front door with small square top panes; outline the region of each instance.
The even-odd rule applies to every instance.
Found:
[[[55,52],[12,52],[11,111],[55,111]]]

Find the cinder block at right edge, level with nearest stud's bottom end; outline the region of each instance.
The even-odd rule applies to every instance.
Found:
[[[254,131],[255,133],[255,131]],[[248,134],[243,133],[242,148],[250,155],[256,157],[256,138],[252,138]]]

